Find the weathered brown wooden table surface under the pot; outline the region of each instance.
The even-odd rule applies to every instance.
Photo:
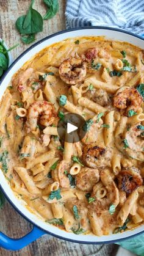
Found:
[[[24,45],[20,42],[20,34],[15,29],[15,21],[18,16],[25,15],[29,7],[30,0],[0,0],[0,38],[3,38],[8,46],[13,46],[15,43],[20,43],[20,46],[12,51],[13,59],[18,57],[29,45]],[[51,20],[44,21],[43,32],[36,35],[36,41],[46,35],[65,29],[65,2],[59,0],[59,12]],[[35,9],[42,15],[45,13],[45,5],[42,0],[35,0]],[[12,238],[20,238],[26,235],[31,230],[32,225],[27,222],[20,214],[12,208],[7,202],[2,210],[0,210],[0,230]],[[100,251],[99,251],[100,250]],[[117,246],[111,245],[84,245],[70,243],[59,240],[52,236],[44,235],[34,243],[21,249],[20,251],[12,252],[0,249],[1,256],[44,256],[44,255],[115,255]]]

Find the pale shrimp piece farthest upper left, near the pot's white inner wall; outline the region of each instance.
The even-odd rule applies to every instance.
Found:
[[[26,82],[31,77],[34,69],[27,68],[26,70],[22,71],[18,76],[14,77],[12,80],[13,86],[18,86],[18,91],[23,92],[26,89]]]

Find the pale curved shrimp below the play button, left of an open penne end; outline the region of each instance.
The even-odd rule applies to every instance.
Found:
[[[57,166],[57,177],[62,188],[70,187],[70,180],[65,174],[65,170],[69,170],[71,163],[69,161],[62,160]]]

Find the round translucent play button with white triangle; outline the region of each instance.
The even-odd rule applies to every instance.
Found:
[[[81,115],[68,113],[65,114],[57,125],[57,133],[62,142],[79,142],[85,134],[86,131],[82,131],[82,126],[84,126],[85,119]]]

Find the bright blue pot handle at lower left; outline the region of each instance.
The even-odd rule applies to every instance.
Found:
[[[4,233],[0,232],[0,247],[12,251],[20,250],[23,247],[27,246],[28,244],[32,243],[33,241],[37,240],[37,238],[40,238],[40,236],[45,234],[46,232],[44,232],[41,229],[38,229],[38,227],[35,226],[31,230],[31,232],[29,232],[22,238],[18,239],[10,238],[9,236],[4,235]]]

